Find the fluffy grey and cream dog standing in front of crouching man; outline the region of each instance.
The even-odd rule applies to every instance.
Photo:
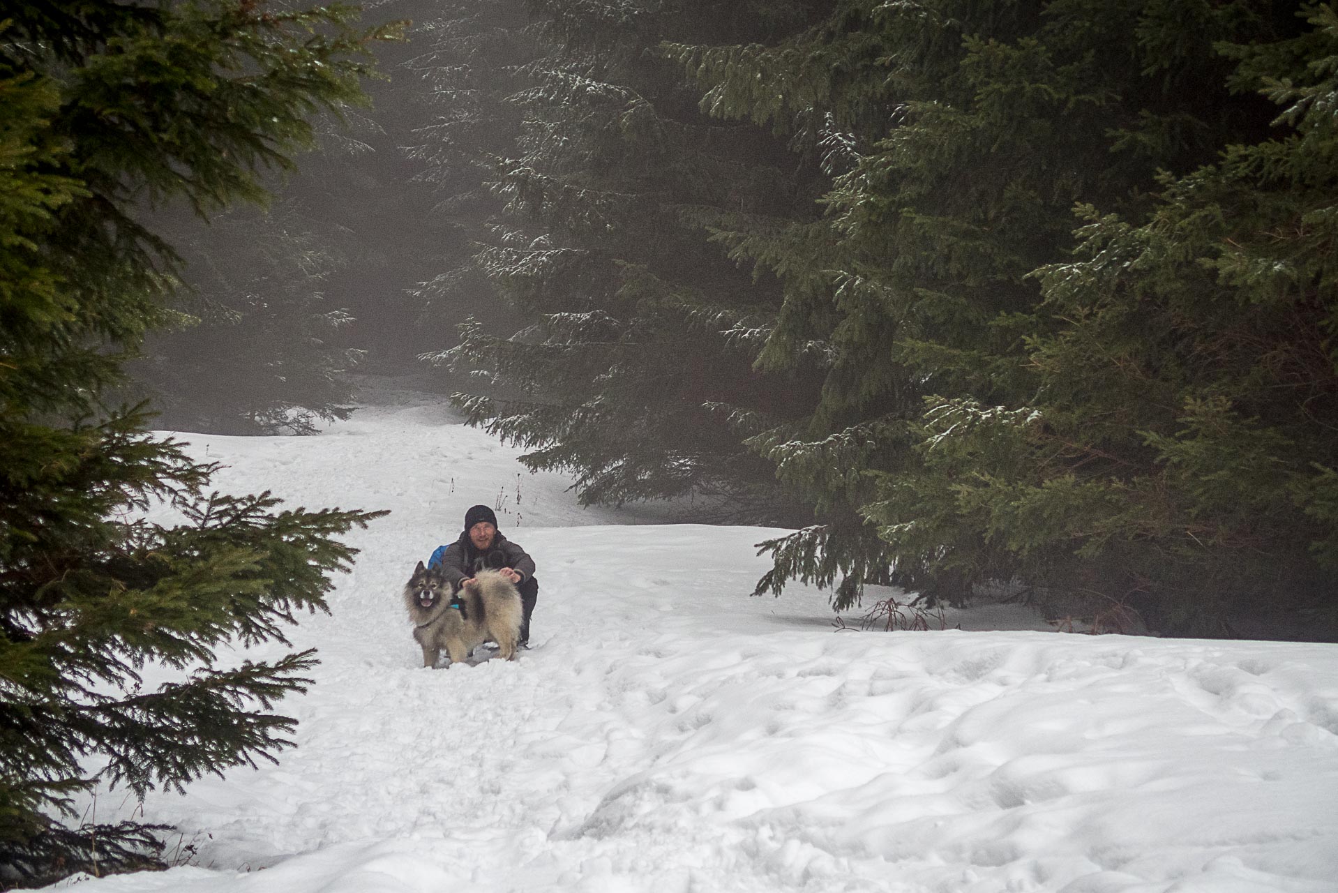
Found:
[[[496,570],[480,570],[452,598],[442,570],[420,561],[404,586],[404,606],[413,621],[413,640],[423,647],[424,667],[435,665],[443,648],[452,664],[460,663],[490,639],[503,659],[515,660],[524,612],[515,585]]]

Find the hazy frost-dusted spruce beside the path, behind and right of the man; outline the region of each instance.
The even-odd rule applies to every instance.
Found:
[[[793,519],[741,442],[811,403],[816,376],[752,368],[775,281],[739,270],[698,218],[720,206],[759,217],[811,208],[812,178],[784,170],[793,165],[769,135],[706,120],[658,44],[792,29],[803,5],[529,9],[538,54],[508,55],[492,79],[514,84],[504,102],[519,119],[515,143],[480,158],[500,209],[474,269],[530,325],[508,337],[468,325],[436,355],[483,383],[459,406],[527,447],[531,467],[574,471],[586,503],[709,494],[721,497],[719,517]],[[463,130],[443,125],[442,137]],[[443,284],[488,300],[467,293],[475,281]]]

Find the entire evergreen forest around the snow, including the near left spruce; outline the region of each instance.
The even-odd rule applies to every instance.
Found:
[[[755,594],[1338,641],[1335,4],[306,5],[0,12],[0,888],[162,865],[76,826],[99,775],[289,744],[314,656],[215,652],[377,513],[151,430],[309,434],[359,371],[791,530]]]

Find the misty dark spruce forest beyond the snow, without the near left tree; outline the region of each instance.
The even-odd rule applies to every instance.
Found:
[[[165,427],[429,371],[589,503],[799,529],[759,592],[1334,636],[1330,5],[364,9],[375,107],[174,230]]]

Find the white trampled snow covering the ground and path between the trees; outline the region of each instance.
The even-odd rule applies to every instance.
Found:
[[[748,597],[775,530],[582,510],[440,398],[365,399],[182,435],[223,491],[392,514],[292,632],[298,747],[153,794],[183,864],[80,892],[1338,890],[1338,647],[839,631],[826,593]],[[535,648],[423,669],[399,590],[475,502],[538,561]]]

